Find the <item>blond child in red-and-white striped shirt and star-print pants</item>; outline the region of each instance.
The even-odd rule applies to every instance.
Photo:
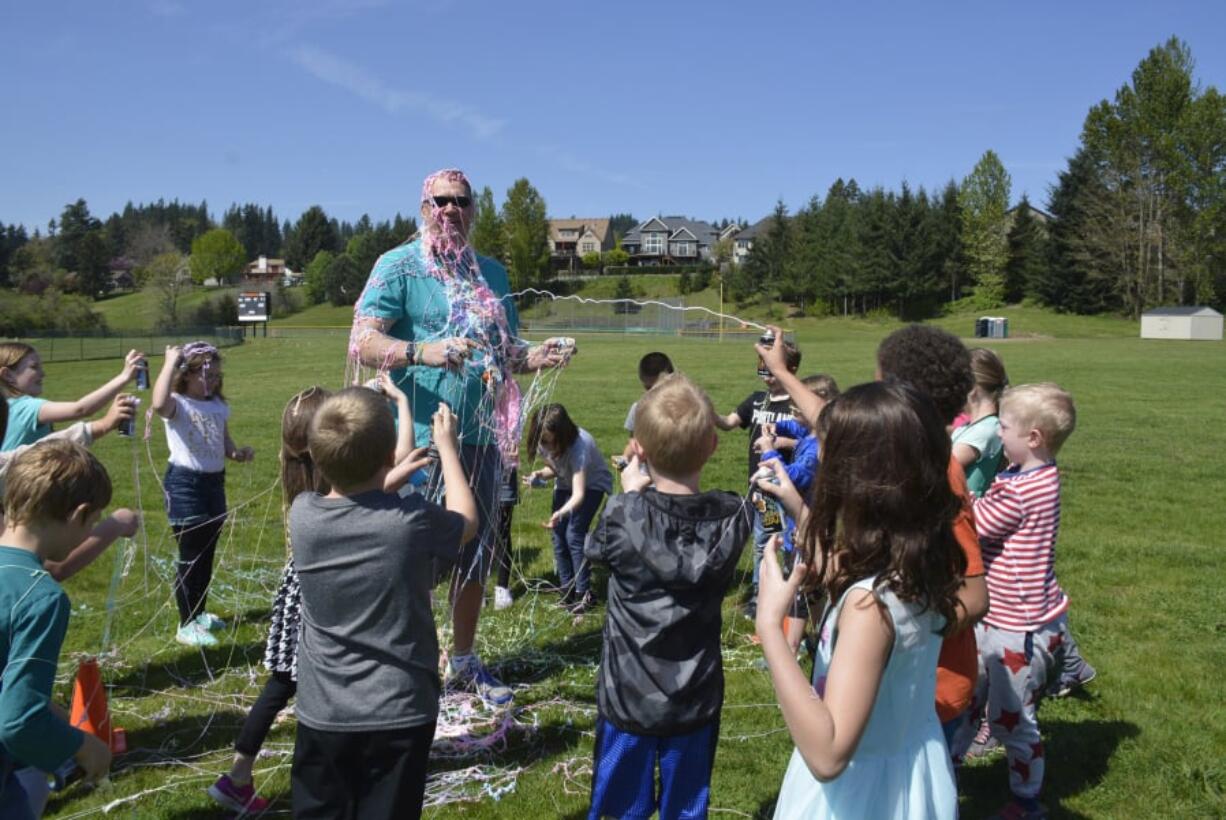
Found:
[[[1053,384],[1007,391],[1000,439],[1010,466],[975,501],[992,604],[976,626],[981,672],[972,710],[986,700],[992,734],[1008,753],[1013,802],[1002,818],[1047,816],[1038,803],[1045,761],[1038,702],[1060,672],[1069,606],[1056,580],[1056,454],[1075,423],[1073,398]]]

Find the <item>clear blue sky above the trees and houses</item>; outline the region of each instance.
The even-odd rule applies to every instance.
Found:
[[[550,216],[754,221],[987,148],[1042,203],[1090,105],[1170,36],[1226,88],[1226,4],[11,2],[0,222],[85,197],[416,211],[459,165]]]

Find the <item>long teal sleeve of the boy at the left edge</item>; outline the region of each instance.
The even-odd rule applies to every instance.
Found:
[[[36,583],[49,581],[44,576]],[[49,772],[77,753],[85,734],[50,708],[55,664],[69,628],[67,596],[31,598],[12,615],[9,659],[0,678],[0,743],[12,757]]]

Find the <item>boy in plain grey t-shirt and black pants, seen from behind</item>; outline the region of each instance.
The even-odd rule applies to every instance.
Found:
[[[311,419],[310,455],[332,490],[289,509],[302,588],[295,818],[421,816],[440,690],[433,559],[455,561],[477,532],[446,404],[433,428],[445,510],[394,492],[427,460],[417,450],[395,463],[384,396],[342,390]]]

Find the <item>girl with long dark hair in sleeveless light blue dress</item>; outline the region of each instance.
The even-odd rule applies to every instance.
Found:
[[[785,580],[769,549],[758,597],[758,635],[796,743],[776,819],[958,814],[933,708],[937,656],[966,569],[951,530],[960,504],[949,458],[935,407],[907,386],[859,385],[831,407],[797,542],[804,563]],[[781,501],[804,514],[781,473]],[[831,602],[812,681],[781,626],[803,585]]]

